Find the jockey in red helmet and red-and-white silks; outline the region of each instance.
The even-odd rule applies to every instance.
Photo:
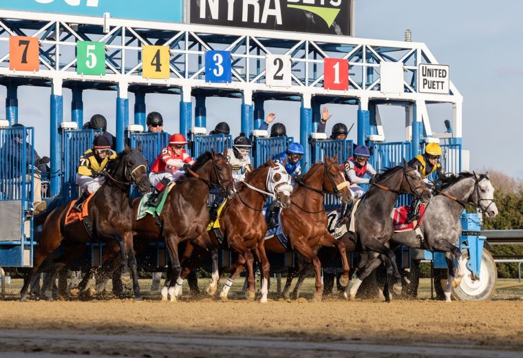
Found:
[[[154,187],[153,193],[149,197],[147,204],[151,206],[156,205],[156,200],[160,192],[166,187],[169,182],[178,180],[180,176],[184,175],[183,168],[194,165],[194,160],[187,154],[184,147],[187,140],[182,134],[173,134],[169,138],[169,146],[162,149],[156,158],[151,173],[149,173],[149,180]]]

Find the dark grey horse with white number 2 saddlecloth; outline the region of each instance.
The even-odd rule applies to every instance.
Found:
[[[350,288],[348,286],[345,288],[344,295],[354,299],[361,282],[383,262],[387,267],[385,302],[390,302],[388,288],[392,276],[394,275],[395,280],[400,280],[401,277],[396,264],[396,255],[387,247],[389,239],[394,234],[391,216],[394,203],[403,193],[412,194],[423,202],[428,202],[432,195],[418,170],[407,165],[405,160],[403,166],[387,169],[378,174],[375,180],[354,214],[356,250],[361,251],[362,259],[356,267],[358,278]]]

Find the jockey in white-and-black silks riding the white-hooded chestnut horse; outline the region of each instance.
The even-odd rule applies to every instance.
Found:
[[[246,138],[244,133],[240,133],[239,136],[234,138],[233,150],[227,152],[228,162],[233,166],[233,179],[235,182],[241,182],[244,180],[245,174],[253,170],[250,166],[250,140]],[[218,193],[211,204],[209,209],[209,216],[211,221],[215,221],[218,215],[218,208],[224,202],[223,194]]]

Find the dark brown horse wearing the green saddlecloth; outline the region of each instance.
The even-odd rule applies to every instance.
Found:
[[[133,230],[139,240],[165,240],[172,266],[171,280],[166,281],[162,288],[162,300],[170,297],[171,302],[176,301],[175,283],[181,272],[178,244],[190,241],[208,251],[215,251],[213,266],[216,266],[217,271],[217,251],[206,231],[209,224],[209,193],[213,187],[228,197],[236,192],[227,149],[223,154],[215,154],[212,149],[211,152],[206,151],[187,171],[188,175],[178,180],[169,192],[159,218],[147,215],[140,220],[133,220]],[[139,206],[140,200],[134,200],[134,218]]]

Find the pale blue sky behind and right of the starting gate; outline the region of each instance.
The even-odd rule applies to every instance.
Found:
[[[498,6],[502,3],[503,6]],[[487,0],[357,0],[356,36],[367,39],[403,40],[405,29],[412,40],[424,42],[439,63],[450,66],[451,81],[463,96],[463,149],[471,151],[470,169],[495,169],[523,178],[521,151],[522,114],[518,108],[523,95],[523,1],[495,3]],[[19,122],[36,127],[36,151],[49,154],[50,89],[19,88]],[[0,87],[0,113],[5,113],[5,87]],[[178,129],[179,96],[147,95],[147,112],[158,111],[165,129]],[[71,93],[64,89],[64,118],[70,118]],[[209,98],[207,127],[220,121],[239,132],[239,100]],[[268,101],[266,114],[275,112],[288,134],[299,138],[299,103]],[[383,108],[382,108],[383,107]],[[129,95],[129,119],[134,118],[134,96]],[[229,109],[224,111],[224,108]],[[328,105],[334,117],[327,126],[341,121],[350,127],[356,120],[356,106]],[[403,108],[381,106],[387,141],[404,140]],[[116,127],[116,92],[84,92],[84,120],[100,113]],[[193,111],[194,113],[194,111]],[[433,131],[445,131],[443,120],[451,118],[449,105],[429,106]],[[349,138],[356,137],[356,126]]]

